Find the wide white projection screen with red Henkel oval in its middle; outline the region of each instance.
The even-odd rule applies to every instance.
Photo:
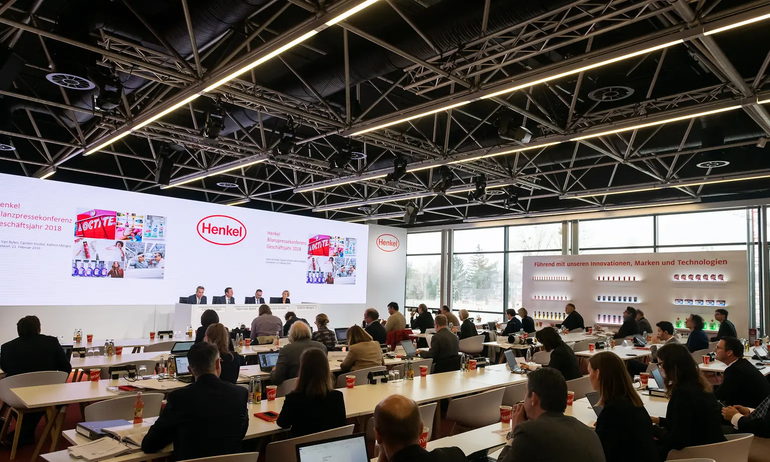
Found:
[[[0,174],[0,305],[365,303],[366,225]]]

